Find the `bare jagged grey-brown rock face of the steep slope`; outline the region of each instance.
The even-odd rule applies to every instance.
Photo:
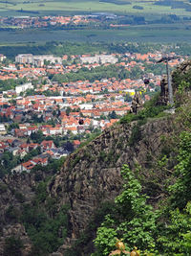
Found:
[[[67,244],[86,229],[101,202],[117,197],[122,185],[120,170],[123,164],[129,164],[133,170],[137,165],[146,169],[148,154],[159,153],[161,135],[172,132],[172,123],[171,118],[148,122],[141,127],[142,139],[133,147],[129,146],[129,138],[136,123],[117,125],[68,157],[60,174],[49,184],[51,197],[71,207],[71,235]]]

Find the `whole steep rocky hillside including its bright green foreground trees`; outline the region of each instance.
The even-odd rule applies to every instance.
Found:
[[[186,61],[173,74],[175,113],[162,81],[60,172],[0,180],[0,254],[102,256],[118,239],[140,255],[190,255],[190,70]]]

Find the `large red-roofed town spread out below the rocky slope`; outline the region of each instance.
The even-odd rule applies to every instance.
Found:
[[[186,56],[170,54],[171,68]],[[161,53],[0,55],[1,176],[61,159],[157,91]]]

